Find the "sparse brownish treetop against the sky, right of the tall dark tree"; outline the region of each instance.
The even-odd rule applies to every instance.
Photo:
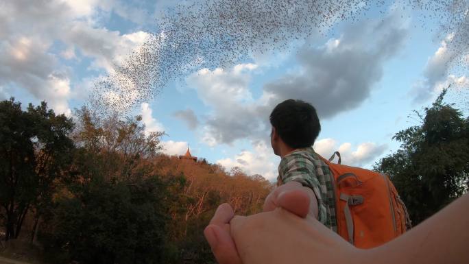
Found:
[[[104,119],[87,108],[77,110],[73,140],[86,152],[99,154],[97,162],[108,178],[129,179],[132,170],[142,165],[142,158],[151,158],[163,149],[160,138],[165,132],[146,132],[141,116],[119,119],[113,115]],[[78,171],[82,173],[84,171]]]

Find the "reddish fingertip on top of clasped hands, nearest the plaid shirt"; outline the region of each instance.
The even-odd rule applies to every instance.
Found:
[[[278,195],[277,201],[278,206],[299,217],[304,218],[309,213],[311,201],[308,193],[303,189],[284,191]]]

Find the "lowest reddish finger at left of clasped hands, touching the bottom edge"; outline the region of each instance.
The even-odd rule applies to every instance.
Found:
[[[204,235],[219,264],[242,264],[236,245],[227,230],[211,224],[205,228]]]

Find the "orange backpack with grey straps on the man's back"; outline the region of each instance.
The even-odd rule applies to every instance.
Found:
[[[339,163],[330,163],[336,154]],[[407,208],[385,174],[341,165],[339,152],[329,160],[322,159],[334,176],[337,233],[341,237],[357,248],[374,248],[411,228]]]

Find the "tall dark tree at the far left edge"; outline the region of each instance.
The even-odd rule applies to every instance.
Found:
[[[5,212],[5,240],[16,239],[27,213],[38,219],[56,179],[71,158],[73,123],[42,102],[27,111],[14,99],[0,102],[0,206]],[[37,223],[37,221],[36,221]]]

